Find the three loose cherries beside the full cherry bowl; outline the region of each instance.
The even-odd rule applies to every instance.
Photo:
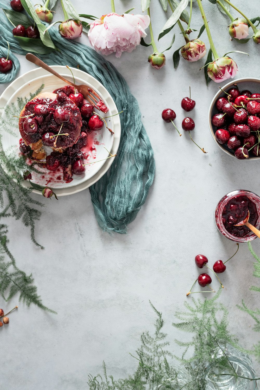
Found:
[[[186,112],[193,110],[193,108],[196,105],[196,102],[195,102],[195,100],[191,99],[191,89],[189,89],[189,97],[187,97],[187,96],[184,97],[182,99],[180,105],[181,105],[182,109]],[[179,135],[181,136],[179,130],[177,129],[177,127],[173,123],[174,119],[176,118],[176,113],[171,108],[165,108],[163,110],[162,118],[165,122],[172,122],[173,126],[178,131]],[[202,150],[203,153],[207,153],[207,152],[205,152],[205,150],[203,148],[201,148],[199,145],[197,145],[196,142],[192,139],[190,131],[192,131],[194,128],[195,128],[195,122],[193,121],[193,119],[190,117],[185,117],[182,121],[182,129],[184,131],[189,132],[189,137],[191,138],[192,142],[194,142],[194,144],[196,146],[198,146],[200,148],[200,150]]]

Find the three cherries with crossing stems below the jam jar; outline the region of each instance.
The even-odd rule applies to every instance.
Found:
[[[207,257],[204,256],[204,255],[196,255],[196,257],[195,257],[195,264],[196,264],[196,266],[197,266],[198,268],[203,268],[204,266],[207,267],[207,268],[209,268],[210,271],[212,271],[215,275],[216,275],[217,273],[223,273],[223,272],[225,272],[225,270],[226,270],[226,266],[225,266],[226,262],[228,262],[230,259],[232,259],[232,257],[235,256],[235,254],[237,253],[238,249],[239,249],[239,244],[237,244],[237,250],[236,250],[236,252],[235,252],[228,260],[226,260],[225,262],[223,262],[222,260],[217,260],[216,262],[214,262],[214,264],[213,264],[213,269],[211,269],[211,268],[209,268],[209,266],[207,266],[207,263],[209,262],[209,260],[208,260]],[[216,277],[217,277],[218,280],[219,280],[218,275],[216,275]],[[212,290],[212,292],[214,292],[214,290],[209,286],[209,284],[211,284],[211,282],[212,282],[212,279],[211,279],[211,277],[209,276],[209,274],[207,274],[207,273],[201,273],[201,274],[198,276],[198,278],[195,280],[195,282],[193,283],[193,286],[195,285],[195,283],[196,283],[197,281],[198,281],[198,284],[199,284],[201,287],[206,287],[206,286],[208,286],[208,287]],[[224,288],[224,286],[223,286],[223,284],[221,283],[220,280],[219,280],[219,283],[221,284],[221,287]],[[193,286],[191,287],[190,291],[186,294],[187,296],[188,296],[189,294],[194,294],[194,293],[191,293],[191,290],[192,290]],[[198,292],[199,292],[199,291],[198,291]]]

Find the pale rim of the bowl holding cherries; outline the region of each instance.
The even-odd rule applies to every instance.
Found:
[[[223,90],[226,90],[228,89],[229,87],[231,87],[232,85],[234,84],[237,84],[237,83],[240,83],[240,82],[257,82],[260,84],[260,78],[257,78],[257,77],[243,77],[243,78],[238,78],[236,80],[232,80],[230,81],[229,83],[225,84],[223,87],[221,87]],[[212,110],[215,106],[215,103],[216,103],[216,100],[221,96],[221,94],[223,94],[223,91],[221,89],[218,90],[218,92],[215,94],[215,96],[213,97],[211,103],[210,103],[210,106],[209,106],[209,113],[208,113],[208,124],[209,124],[209,131],[210,131],[210,134],[212,136],[212,138],[214,139],[214,141],[216,142],[216,144],[218,145],[218,147],[221,148],[221,150],[223,152],[225,152],[226,154],[228,154],[228,156],[231,156],[233,158],[236,158],[234,154],[232,154],[231,152],[227,151],[221,144],[219,144],[219,142],[216,140],[216,137],[215,137],[215,133],[214,133],[214,130],[212,128],[212,124],[211,124],[211,117],[212,117]],[[245,160],[259,160],[260,159],[260,156],[258,157],[249,157],[248,159],[245,159]]]

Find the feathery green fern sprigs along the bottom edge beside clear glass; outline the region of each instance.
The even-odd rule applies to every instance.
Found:
[[[175,312],[175,318],[179,322],[173,323],[173,326],[189,333],[187,339],[190,339],[175,340],[179,346],[184,347],[181,358],[172,355],[168,350],[167,335],[162,332],[162,314],[150,303],[157,315],[155,332],[153,336],[149,332],[142,333],[137,356],[132,355],[138,360],[134,374],[115,380],[113,376],[107,376],[103,362],[103,377],[88,376],[90,390],[205,390],[207,367],[214,367],[208,374],[213,383],[221,374],[237,376],[225,352],[226,346],[234,344],[237,339],[228,331],[226,308],[216,302],[220,294],[221,287],[214,298],[192,298],[192,303],[185,302],[186,311]],[[190,348],[192,357],[186,358]],[[185,370],[178,368],[173,358],[179,361],[179,365],[185,367]],[[187,378],[190,379],[184,383],[180,381],[179,370],[186,371]]]

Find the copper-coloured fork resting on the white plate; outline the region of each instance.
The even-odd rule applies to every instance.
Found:
[[[38,65],[40,66],[42,69],[45,69],[47,72],[50,72],[51,74],[54,74],[54,76],[60,78],[61,80],[63,80],[65,83],[69,84],[69,85],[72,85],[73,87],[75,87],[82,95],[85,99],[87,99],[87,101],[89,103],[91,103],[92,105],[94,105],[98,110],[104,112],[104,113],[107,113],[108,112],[108,108],[106,107],[106,105],[104,104],[103,100],[101,99],[101,97],[97,94],[97,92],[95,92],[92,88],[90,88],[88,85],[85,85],[85,84],[80,84],[80,85],[77,85],[77,84],[74,84],[68,80],[66,80],[63,76],[61,76],[60,74],[58,74],[57,72],[55,72],[55,70],[53,70],[50,66],[48,66],[47,64],[45,64],[45,62],[41,61],[38,57],[36,57],[35,55],[31,54],[31,53],[27,53],[27,55],[25,56],[25,58],[32,62],[33,64],[35,65]],[[98,99],[98,100],[97,100]]]

